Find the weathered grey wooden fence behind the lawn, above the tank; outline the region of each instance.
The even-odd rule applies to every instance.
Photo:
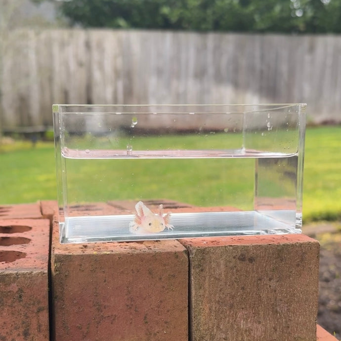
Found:
[[[15,30],[0,42],[3,128],[51,125],[51,105],[308,103],[341,121],[341,36]]]

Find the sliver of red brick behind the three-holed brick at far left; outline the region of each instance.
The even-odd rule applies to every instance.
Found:
[[[0,219],[37,219],[42,217],[39,203],[0,205]]]

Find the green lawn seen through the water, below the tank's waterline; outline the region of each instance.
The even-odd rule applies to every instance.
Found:
[[[96,160],[95,163],[68,160],[67,163],[72,170],[68,175],[70,202],[80,198],[84,202],[163,198],[197,206],[225,204],[245,210],[253,207],[255,162],[252,159],[235,159],[229,167],[226,159]]]

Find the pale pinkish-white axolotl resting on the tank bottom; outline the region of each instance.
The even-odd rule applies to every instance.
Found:
[[[155,214],[146,205],[139,201],[135,205],[135,218],[129,223],[129,231],[137,234],[162,232],[166,227],[168,230],[174,228],[170,224],[171,213],[164,214],[163,206],[159,206],[159,213]]]

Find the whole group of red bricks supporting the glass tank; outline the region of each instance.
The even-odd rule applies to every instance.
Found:
[[[309,237],[61,245],[55,206],[0,207],[0,340],[336,340]]]

